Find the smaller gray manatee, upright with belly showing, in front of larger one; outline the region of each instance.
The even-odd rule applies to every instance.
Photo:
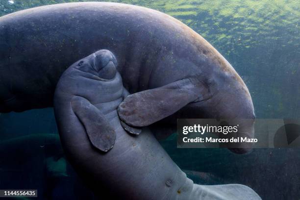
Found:
[[[96,193],[105,187],[111,197],[131,200],[260,199],[243,185],[193,184],[149,130],[139,136],[126,133],[117,108],[128,92],[116,65],[110,51],[99,50],[69,67],[54,94],[64,150]],[[110,150],[103,153],[99,147]]]

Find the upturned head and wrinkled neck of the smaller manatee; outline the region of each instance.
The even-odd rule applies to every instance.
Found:
[[[116,110],[124,91],[117,61],[109,50],[99,50],[71,65],[60,77],[56,90],[66,99],[80,96],[103,113]]]

